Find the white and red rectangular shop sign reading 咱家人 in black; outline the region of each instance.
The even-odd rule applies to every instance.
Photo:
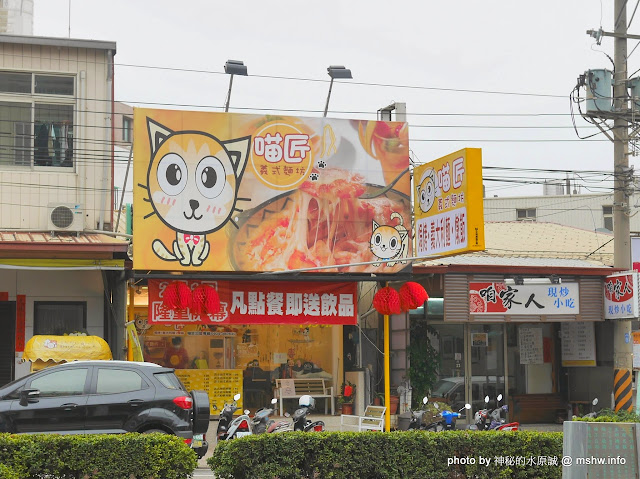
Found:
[[[579,314],[580,285],[469,283],[471,314]]]

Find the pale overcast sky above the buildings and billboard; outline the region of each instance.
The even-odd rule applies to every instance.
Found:
[[[636,6],[628,2],[629,19]],[[116,42],[115,99],[134,106],[223,111],[233,59],[249,75],[234,77],[230,112],[318,117],[327,67],[344,65],[353,79],[334,83],[328,116],[375,119],[406,103],[415,163],[475,147],[487,196],[539,195],[541,180],[567,175],[546,170],[570,170],[580,193],[605,193],[608,176],[585,172],[611,172],[613,146],[602,134],[578,138],[574,121],[580,136],[599,130],[572,121],[569,94],[586,70],[613,68],[613,39],[586,34],[613,31],[613,9],[613,0],[35,0],[34,34]],[[637,68],[640,48],[629,56]]]

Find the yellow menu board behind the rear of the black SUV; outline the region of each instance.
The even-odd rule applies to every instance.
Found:
[[[211,414],[220,414],[225,403],[233,401],[233,396],[242,394],[242,369],[176,369],[187,391],[199,389],[209,395]],[[238,411],[242,411],[242,400],[237,401]]]

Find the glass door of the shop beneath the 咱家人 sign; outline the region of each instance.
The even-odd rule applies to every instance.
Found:
[[[472,411],[486,407],[485,396],[489,396],[490,408],[496,407],[499,394],[502,394],[500,404],[506,404],[504,324],[469,325],[469,350],[467,394]]]

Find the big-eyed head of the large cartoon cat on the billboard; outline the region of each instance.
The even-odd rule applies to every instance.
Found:
[[[155,213],[182,233],[222,228],[235,208],[251,138],[220,141],[201,131],[174,132],[150,118],[147,127],[147,185]]]

